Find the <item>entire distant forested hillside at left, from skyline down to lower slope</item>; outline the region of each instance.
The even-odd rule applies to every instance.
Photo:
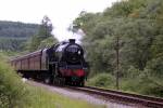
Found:
[[[0,51],[21,51],[38,29],[38,24],[0,21]]]

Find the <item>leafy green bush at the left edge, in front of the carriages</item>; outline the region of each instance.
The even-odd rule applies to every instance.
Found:
[[[2,58],[2,57],[0,57]],[[28,91],[21,78],[4,60],[0,62],[0,108],[23,108]]]

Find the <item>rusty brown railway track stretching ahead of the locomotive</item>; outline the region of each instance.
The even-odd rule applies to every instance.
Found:
[[[151,107],[151,108],[163,108],[163,98],[131,94],[131,93],[124,93],[124,92],[113,91],[113,90],[104,90],[104,89],[92,87],[92,86],[85,86],[85,87],[68,86],[68,89],[99,95],[105,99],[111,99],[124,104],[135,104],[139,106]]]

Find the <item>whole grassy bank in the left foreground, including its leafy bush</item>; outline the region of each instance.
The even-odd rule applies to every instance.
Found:
[[[0,108],[101,108],[23,83],[0,53]]]

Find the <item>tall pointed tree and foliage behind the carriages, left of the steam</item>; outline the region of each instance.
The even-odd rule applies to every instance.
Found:
[[[38,33],[36,36],[33,36],[32,39],[26,43],[26,49],[33,52],[54,44],[55,42],[58,42],[58,40],[53,37],[51,32],[51,21],[48,16],[45,16],[39,27]]]

